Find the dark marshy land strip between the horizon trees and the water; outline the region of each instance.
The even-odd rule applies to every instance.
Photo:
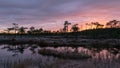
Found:
[[[71,33],[0,34],[0,44],[120,48],[120,28],[92,29]]]

